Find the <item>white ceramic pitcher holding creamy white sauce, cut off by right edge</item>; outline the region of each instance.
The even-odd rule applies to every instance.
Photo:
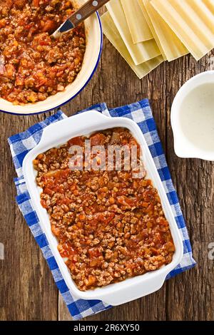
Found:
[[[180,88],[171,125],[178,157],[214,160],[214,71],[200,73]]]

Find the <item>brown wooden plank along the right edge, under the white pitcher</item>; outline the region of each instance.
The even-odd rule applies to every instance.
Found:
[[[170,126],[170,106],[175,93],[189,78],[211,69],[213,55],[214,51],[198,63],[192,56],[186,56],[171,63],[166,70],[167,159],[198,262],[194,269],[168,281],[168,320],[214,318],[214,268],[213,261],[208,259],[208,244],[214,241],[214,163],[178,158],[174,153]]]

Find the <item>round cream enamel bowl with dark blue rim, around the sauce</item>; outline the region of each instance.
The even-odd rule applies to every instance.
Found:
[[[75,2],[81,5],[85,1],[86,0],[78,0]],[[58,92],[55,96],[49,96],[49,98],[44,101],[27,103],[26,105],[13,105],[13,103],[0,98],[0,110],[2,112],[19,115],[37,114],[57,108],[75,98],[88,84],[93,73],[96,71],[103,46],[103,33],[98,13],[95,13],[86,19],[85,27],[86,53],[83,59],[82,68],[75,81],[68,85],[65,91]]]

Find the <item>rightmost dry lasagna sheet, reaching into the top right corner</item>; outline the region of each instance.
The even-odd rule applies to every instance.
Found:
[[[213,0],[152,0],[151,5],[197,61],[214,48]]]

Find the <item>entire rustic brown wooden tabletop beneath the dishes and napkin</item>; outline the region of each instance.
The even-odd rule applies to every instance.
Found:
[[[93,79],[79,96],[61,108],[66,115],[72,115],[103,101],[112,108],[142,98],[150,99],[198,262],[194,269],[165,282],[158,292],[86,320],[214,319],[214,261],[208,259],[208,244],[214,242],[214,163],[176,157],[170,126],[170,106],[175,93],[196,73],[214,69],[213,57],[214,51],[198,63],[191,56],[163,63],[140,81],[104,38],[101,62]],[[10,135],[48,115],[0,113],[0,242],[5,246],[5,259],[0,260],[1,320],[71,320],[14,200],[16,174],[7,144]]]

